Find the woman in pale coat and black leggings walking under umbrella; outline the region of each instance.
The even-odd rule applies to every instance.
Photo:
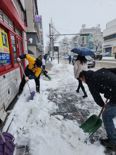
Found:
[[[82,81],[79,79],[79,74],[81,71],[87,70],[86,62],[87,62],[87,60],[84,56],[78,55],[78,57],[74,63],[74,77],[78,80],[78,88],[77,88],[76,92],[79,93],[79,90],[81,88],[84,93],[83,98],[87,97],[87,93],[85,91]]]

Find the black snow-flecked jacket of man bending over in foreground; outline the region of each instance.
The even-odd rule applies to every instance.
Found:
[[[100,93],[104,94],[105,98],[116,103],[116,75],[113,72],[105,68],[96,72],[87,71],[85,72],[85,81],[98,105],[104,106]]]

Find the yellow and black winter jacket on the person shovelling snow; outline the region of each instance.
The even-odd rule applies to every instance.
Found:
[[[30,74],[32,72],[33,76],[35,76],[34,78],[39,77],[42,72],[42,68],[34,67],[34,65],[36,63],[36,58],[31,56],[30,54],[24,54],[24,55],[20,56],[20,59],[24,59],[24,58],[28,60],[28,65],[26,67],[26,73],[27,73],[26,75],[28,76],[28,74]]]

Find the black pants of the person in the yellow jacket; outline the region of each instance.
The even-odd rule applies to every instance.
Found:
[[[30,75],[32,76],[33,74],[34,73],[26,67],[25,75],[29,77]],[[36,91],[40,92],[40,76],[35,78],[34,80],[35,80],[35,84],[36,84]],[[25,80],[25,76],[23,75],[22,81],[19,86],[19,94],[22,93],[25,84],[26,84],[26,80]]]

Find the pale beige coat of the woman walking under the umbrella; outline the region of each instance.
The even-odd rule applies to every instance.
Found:
[[[79,74],[83,70],[87,70],[87,64],[86,63],[82,64],[80,60],[75,61],[75,63],[74,63],[74,77],[76,79],[79,78]]]

